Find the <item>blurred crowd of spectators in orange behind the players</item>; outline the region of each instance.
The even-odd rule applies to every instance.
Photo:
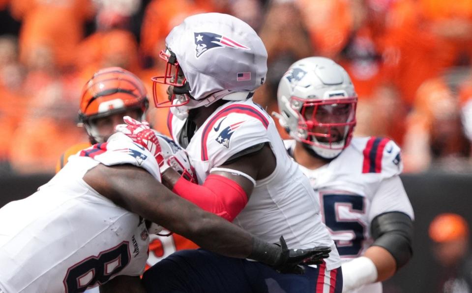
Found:
[[[269,113],[289,65],[326,56],[359,95],[354,135],[395,140],[405,172],[472,171],[472,0],[0,0],[0,173],[52,173],[87,141],[79,99],[101,67],[136,73],[151,100],[165,36],[201,12],[259,33],[268,75],[255,99]],[[167,133],[167,110],[150,104]]]

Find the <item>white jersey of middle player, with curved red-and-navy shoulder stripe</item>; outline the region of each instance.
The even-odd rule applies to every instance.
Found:
[[[178,142],[185,120],[169,116]],[[324,226],[310,183],[291,160],[272,118],[252,98],[220,106],[195,132],[186,150],[200,183],[213,167],[250,146],[269,142],[277,160],[274,172],[256,182],[247,205],[234,223],[261,239],[275,243],[281,235],[291,248],[329,246],[327,269],[340,266],[334,242]]]

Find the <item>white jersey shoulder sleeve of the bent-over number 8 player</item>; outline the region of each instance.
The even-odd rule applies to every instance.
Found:
[[[94,144],[82,150],[81,157],[89,157],[107,166],[132,164],[146,169],[160,181],[159,165],[154,156],[141,145],[135,144],[131,138],[121,132],[110,136],[107,142]]]

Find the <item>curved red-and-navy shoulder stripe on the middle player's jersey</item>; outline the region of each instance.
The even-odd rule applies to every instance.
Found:
[[[231,113],[241,113],[241,114],[246,114],[248,116],[254,117],[261,121],[261,123],[264,125],[264,127],[267,129],[269,126],[269,120],[267,117],[259,112],[258,110],[254,109],[253,107],[249,105],[241,105],[241,104],[236,104],[236,105],[230,105],[223,110],[219,111],[215,116],[213,116],[210,121],[208,121],[207,125],[205,126],[203,133],[202,133],[202,161],[208,161],[208,150],[207,150],[207,140],[208,140],[208,134],[210,131],[213,129],[213,125],[215,125],[216,121],[220,119],[223,116],[227,116]]]

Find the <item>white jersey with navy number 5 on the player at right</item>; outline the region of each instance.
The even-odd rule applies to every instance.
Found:
[[[293,155],[295,140],[284,143]],[[323,221],[343,261],[361,256],[373,243],[370,224],[375,217],[402,212],[413,219],[412,205],[399,178],[403,169],[400,148],[387,138],[354,137],[330,163],[314,170],[300,168],[310,179]],[[364,287],[358,292],[382,292],[380,283]]]

